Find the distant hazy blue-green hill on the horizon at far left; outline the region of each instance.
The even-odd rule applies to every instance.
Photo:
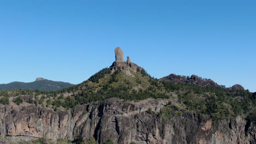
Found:
[[[65,87],[71,87],[73,84],[62,81],[51,81],[39,77],[34,82],[10,82],[7,84],[0,84],[0,91],[9,89],[38,89],[40,91],[56,91]]]

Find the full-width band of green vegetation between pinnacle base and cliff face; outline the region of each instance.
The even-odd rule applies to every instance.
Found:
[[[65,96],[67,94],[68,96]],[[172,97],[172,95],[177,97]],[[34,99],[26,101],[36,106],[45,106],[57,111],[58,107],[73,109],[76,105],[102,101],[108,98],[125,100],[143,100],[147,98],[178,101],[179,109],[167,107],[160,114],[165,118],[181,114],[183,110],[209,115],[214,121],[236,115],[253,119],[256,111],[256,94],[248,90],[230,92],[225,87],[200,87],[159,81],[151,77],[146,70],[137,69],[111,71],[104,68],[92,75],[87,81],[59,91],[30,91],[14,89],[0,92],[1,104],[9,104],[9,97],[15,97],[14,103],[21,104],[23,95],[32,95]],[[175,104],[173,104],[175,105]],[[177,107],[177,105],[176,105]],[[84,112],[86,114],[86,111]]]

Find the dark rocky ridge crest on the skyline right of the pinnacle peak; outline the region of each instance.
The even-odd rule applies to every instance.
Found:
[[[173,83],[184,83],[190,85],[197,85],[200,87],[220,87],[216,82],[211,79],[203,80],[197,75],[191,75],[190,77],[183,77],[181,75],[170,74],[168,76],[162,77],[161,81],[170,81]]]

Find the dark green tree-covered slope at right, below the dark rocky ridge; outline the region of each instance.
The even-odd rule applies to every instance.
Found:
[[[179,103],[189,110],[210,115],[213,120],[232,115],[249,115],[256,109],[255,97],[251,92],[230,92],[224,87],[199,87],[162,81],[167,91],[178,93]]]

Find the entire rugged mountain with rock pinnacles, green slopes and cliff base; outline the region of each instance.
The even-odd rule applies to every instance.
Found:
[[[79,85],[0,92],[0,143],[256,143],[255,121],[256,93],[195,75],[154,79],[119,47]]]

